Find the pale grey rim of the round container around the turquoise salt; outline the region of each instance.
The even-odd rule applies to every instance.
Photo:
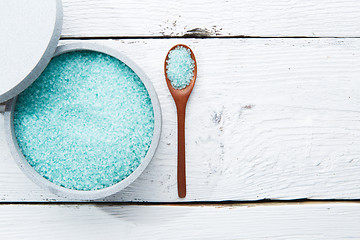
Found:
[[[149,165],[151,159],[155,155],[156,149],[160,142],[160,135],[161,135],[161,107],[160,102],[158,99],[158,95],[154,86],[152,85],[148,76],[141,70],[141,68],[135,64],[131,59],[127,56],[122,54],[116,49],[96,44],[96,43],[88,43],[88,42],[80,42],[80,43],[69,43],[58,46],[56,48],[55,54],[53,57],[58,55],[72,52],[72,51],[95,51],[110,55],[115,57],[125,63],[128,67],[130,67],[140,78],[146,90],[149,93],[151,103],[153,106],[154,112],[154,133],[153,138],[150,144],[150,147],[142,159],[140,165],[133,171],[128,177],[121,180],[120,182],[111,185],[109,187],[99,189],[99,190],[74,190],[65,188],[55,183],[47,180],[43,176],[41,176],[25,159],[24,155],[22,154],[20,147],[18,145],[17,139],[15,137],[15,130],[14,130],[14,109],[16,105],[17,97],[6,102],[5,106],[5,133],[6,133],[6,141],[9,145],[10,152],[20,167],[20,169],[29,177],[34,183],[42,187],[43,189],[47,189],[51,193],[54,193],[60,197],[70,198],[70,199],[78,199],[78,200],[95,200],[100,198],[105,198],[107,196],[113,195],[127,186],[129,186],[136,178],[138,178],[141,173],[145,170],[145,168]]]

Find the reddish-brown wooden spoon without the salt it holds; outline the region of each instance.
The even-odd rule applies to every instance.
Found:
[[[168,79],[166,73],[166,65],[169,53],[179,47],[182,46],[190,50],[191,58],[194,60],[194,75],[191,79],[188,86],[183,89],[175,89],[171,85],[170,80]],[[192,89],[195,85],[196,74],[197,74],[197,66],[195,55],[192,50],[183,44],[178,44],[173,46],[166,55],[165,63],[164,63],[164,71],[165,71],[165,79],[170,90],[172,97],[174,98],[177,115],[178,115],[178,169],[177,169],[177,182],[178,182],[178,195],[180,198],[184,198],[186,196],[186,174],[185,174],[185,112],[186,112],[186,103],[189,99]]]

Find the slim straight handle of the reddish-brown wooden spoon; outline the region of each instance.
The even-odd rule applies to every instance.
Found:
[[[178,195],[180,198],[186,196],[186,173],[185,173],[185,104],[178,104]]]

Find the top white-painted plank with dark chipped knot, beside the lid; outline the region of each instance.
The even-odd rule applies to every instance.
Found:
[[[63,0],[63,37],[359,37],[357,0]]]

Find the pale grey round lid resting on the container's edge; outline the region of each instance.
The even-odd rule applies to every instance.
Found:
[[[44,71],[61,29],[61,0],[0,1],[0,103],[24,91]]]

